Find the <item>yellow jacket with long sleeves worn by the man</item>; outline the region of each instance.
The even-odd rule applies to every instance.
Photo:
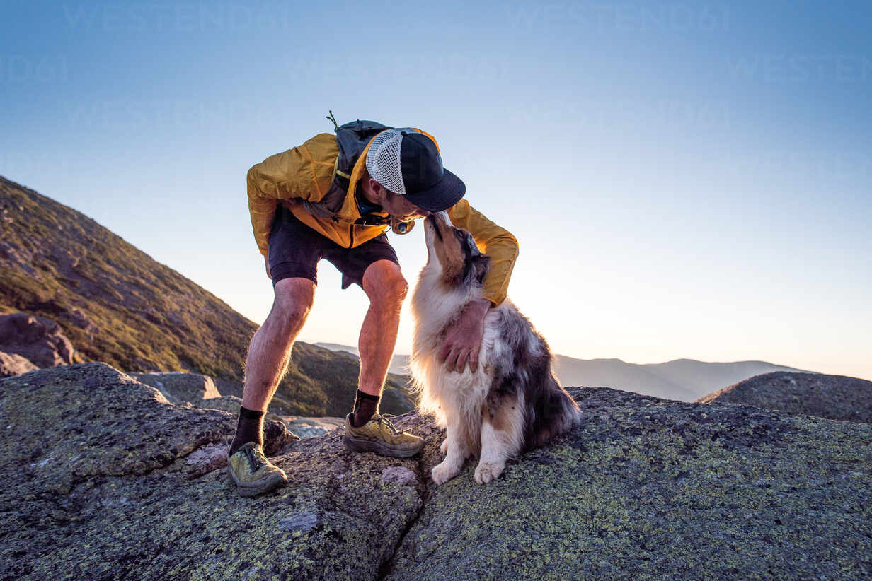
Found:
[[[355,188],[364,174],[368,150],[369,145],[366,145],[354,164],[348,192],[342,194],[344,198],[329,202],[325,195],[333,184],[339,154],[336,136],[330,133],[319,133],[303,145],[276,153],[252,166],[248,173],[249,212],[260,252],[267,255],[269,231],[279,203],[289,208],[298,220],[343,247],[357,247],[385,232],[390,226],[354,224],[361,217]],[[518,241],[507,230],[487,220],[466,199],[460,199],[447,213],[452,224],[469,231],[480,251],[490,257],[484,296],[494,306],[499,305],[506,298],[508,280],[518,257]],[[387,216],[387,213],[381,215]]]

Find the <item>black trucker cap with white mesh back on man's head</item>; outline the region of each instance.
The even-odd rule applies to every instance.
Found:
[[[379,184],[428,212],[447,210],[467,186],[442,166],[433,138],[413,127],[379,133],[366,154],[366,170]]]

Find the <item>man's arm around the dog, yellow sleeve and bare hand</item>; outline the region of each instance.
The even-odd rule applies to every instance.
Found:
[[[469,231],[479,250],[487,253],[491,259],[491,267],[484,280],[483,298],[470,302],[457,321],[446,327],[445,342],[439,351],[439,360],[445,362],[446,368],[460,373],[467,361],[473,371],[479,366],[485,315],[490,308],[506,300],[508,280],[514,261],[518,258],[518,241],[508,230],[487,220],[469,206],[465,199],[448,210],[448,217],[454,226]]]

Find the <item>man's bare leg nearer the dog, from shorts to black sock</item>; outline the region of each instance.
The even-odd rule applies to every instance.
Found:
[[[376,260],[364,271],[364,292],[370,299],[360,328],[360,376],[358,388],[380,396],[397,345],[399,311],[409,285],[399,266],[391,260]]]

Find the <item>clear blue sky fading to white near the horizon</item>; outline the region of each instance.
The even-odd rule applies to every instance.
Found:
[[[557,353],[872,380],[869,2],[5,2],[0,174],[260,324],[250,166],[355,118],[439,140]],[[413,284],[422,228],[391,236]],[[319,268],[300,338],[357,344]],[[407,311],[398,353],[408,353]]]

